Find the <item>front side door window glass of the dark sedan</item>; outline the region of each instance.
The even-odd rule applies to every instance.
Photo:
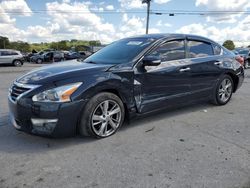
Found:
[[[162,61],[171,61],[185,58],[185,45],[183,40],[175,40],[167,42],[150,55],[158,56]]]

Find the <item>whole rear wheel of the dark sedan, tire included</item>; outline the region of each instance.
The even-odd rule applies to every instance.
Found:
[[[234,89],[234,82],[231,76],[224,75],[216,85],[212,103],[215,105],[227,104],[232,97],[233,89]]]

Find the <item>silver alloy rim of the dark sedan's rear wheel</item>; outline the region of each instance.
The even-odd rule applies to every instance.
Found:
[[[233,85],[232,85],[231,80],[228,78],[225,78],[219,86],[219,91],[218,91],[219,99],[223,103],[226,103],[230,99],[232,95],[232,91],[233,91]]]

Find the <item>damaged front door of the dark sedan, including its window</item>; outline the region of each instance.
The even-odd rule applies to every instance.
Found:
[[[138,111],[145,113],[184,102],[190,94],[189,63],[185,62],[184,40],[168,41],[150,56],[161,59],[158,66],[139,63],[135,70],[134,92]]]

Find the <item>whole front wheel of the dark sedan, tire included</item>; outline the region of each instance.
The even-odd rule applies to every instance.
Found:
[[[79,134],[95,138],[109,137],[121,127],[124,116],[124,105],[117,95],[99,93],[89,100],[82,112]]]

